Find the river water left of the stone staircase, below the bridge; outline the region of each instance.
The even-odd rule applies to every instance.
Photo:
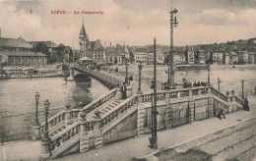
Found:
[[[49,117],[65,108],[66,103],[85,105],[108,91],[97,80],[84,85],[63,78],[0,80],[0,132],[4,140],[23,139],[32,131],[34,122],[34,93],[39,92],[38,118],[44,121],[43,101],[50,101]],[[0,133],[1,134],[1,133]],[[2,135],[1,134],[1,135]]]

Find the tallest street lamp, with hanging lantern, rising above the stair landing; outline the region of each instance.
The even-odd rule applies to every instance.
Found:
[[[177,18],[176,18],[176,14],[177,14],[177,9],[173,9],[172,7],[170,9],[170,52],[169,52],[169,57],[168,57],[168,80],[167,80],[167,86],[168,88],[175,88],[174,86],[174,69],[173,69],[173,26],[177,27],[178,23],[177,23]],[[173,20],[173,15],[174,20]]]

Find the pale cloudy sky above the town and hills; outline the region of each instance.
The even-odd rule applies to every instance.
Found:
[[[83,21],[102,45],[170,44],[171,0],[2,0],[2,37],[51,40],[79,48]],[[256,0],[172,0],[178,10],[174,45],[221,43],[256,37]],[[51,14],[52,11],[70,14]],[[80,14],[74,14],[74,12]],[[81,14],[82,11],[103,14]]]

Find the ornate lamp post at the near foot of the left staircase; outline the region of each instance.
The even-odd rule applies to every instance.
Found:
[[[43,102],[44,104],[44,108],[45,108],[45,128],[44,128],[44,134],[43,134],[43,139],[41,141],[42,144],[42,154],[41,157],[42,158],[49,158],[50,157],[50,139],[49,139],[49,135],[48,135],[48,122],[47,122],[47,116],[48,116],[48,110],[49,110],[49,106],[50,106],[50,102],[48,101],[48,99]]]

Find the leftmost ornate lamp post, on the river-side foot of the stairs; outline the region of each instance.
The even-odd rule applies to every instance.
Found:
[[[35,98],[35,118],[34,123],[32,126],[32,140],[37,140],[40,138],[40,125],[38,121],[38,100],[39,100],[40,94],[36,92],[34,94]]]

